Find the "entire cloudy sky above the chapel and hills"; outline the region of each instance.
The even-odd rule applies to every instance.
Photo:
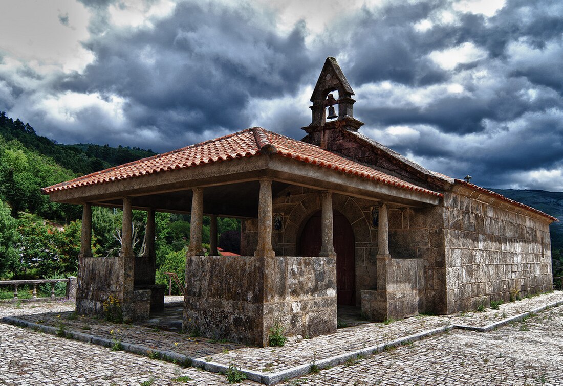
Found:
[[[487,187],[563,191],[561,0],[2,0],[0,111],[61,143],[301,139],[327,56],[361,132]]]

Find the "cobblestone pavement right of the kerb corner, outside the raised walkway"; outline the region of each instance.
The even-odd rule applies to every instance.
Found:
[[[561,385],[563,306],[489,333],[453,330],[286,385]]]

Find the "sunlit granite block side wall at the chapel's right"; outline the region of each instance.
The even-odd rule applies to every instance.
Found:
[[[444,201],[448,313],[553,289],[546,221],[456,192]]]

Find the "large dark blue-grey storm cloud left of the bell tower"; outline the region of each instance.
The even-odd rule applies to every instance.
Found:
[[[296,91],[311,66],[304,34],[300,23],[282,37],[249,7],[181,3],[153,29],[92,39],[96,61],[61,89],[125,97],[133,127],[158,127],[177,145],[182,133],[246,127],[250,98]]]

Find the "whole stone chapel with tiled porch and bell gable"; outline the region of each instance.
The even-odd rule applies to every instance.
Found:
[[[287,335],[336,331],[339,306],[383,321],[552,290],[556,218],[364,136],[353,96],[329,57],[301,141],[253,127],[43,188],[83,207],[77,312],[101,313],[109,295],[129,320],[162,309],[155,211],[191,214],[184,328],[209,337],[263,346],[275,324]],[[123,208],[118,257],[92,256],[92,205]],[[141,256],[132,209],[146,211]],[[217,253],[220,216],[242,219],[240,256]]]

